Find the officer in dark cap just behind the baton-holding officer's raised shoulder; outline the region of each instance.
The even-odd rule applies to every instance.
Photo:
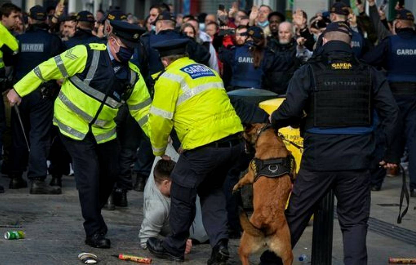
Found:
[[[103,42],[99,37],[92,34],[94,30],[94,15],[89,11],[81,11],[77,14],[77,31],[74,36],[64,42],[65,50],[79,44]]]

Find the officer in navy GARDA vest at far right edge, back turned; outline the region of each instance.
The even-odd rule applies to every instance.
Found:
[[[363,59],[372,65],[387,70],[387,80],[391,92],[400,109],[400,119],[404,125],[401,144],[409,151],[410,195],[416,197],[416,32],[414,15],[402,9],[396,14],[397,35],[384,39]],[[399,139],[398,139],[399,140]],[[380,185],[382,178],[374,185]]]

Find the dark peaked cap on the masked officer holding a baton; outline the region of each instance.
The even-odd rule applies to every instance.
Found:
[[[139,45],[140,36],[146,32],[143,27],[126,21],[110,20],[110,25],[113,27],[112,33],[119,37],[126,46],[131,48]]]

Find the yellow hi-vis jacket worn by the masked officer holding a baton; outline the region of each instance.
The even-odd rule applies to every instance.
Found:
[[[14,86],[21,97],[42,82],[62,79],[64,82],[54,104],[53,123],[65,136],[82,140],[91,127],[97,143],[116,138],[114,118],[126,96],[131,115],[149,136],[151,99],[139,69],[129,63],[129,84],[121,84],[114,76],[106,45],[77,45],[39,64]],[[130,94],[131,93],[131,94]]]

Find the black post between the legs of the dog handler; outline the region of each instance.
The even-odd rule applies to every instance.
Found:
[[[334,191],[322,198],[314,214],[312,233],[312,265],[332,264],[332,233],[334,228]]]

